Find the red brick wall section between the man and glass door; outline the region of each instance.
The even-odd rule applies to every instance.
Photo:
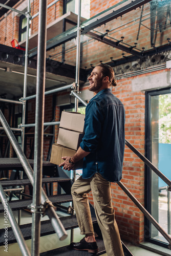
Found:
[[[142,154],[144,154],[144,114],[145,97],[142,92],[132,91],[132,79],[126,78],[118,81],[114,88],[114,94],[125,107],[125,139],[132,143]],[[125,146],[123,161],[123,176],[121,182],[130,192],[144,203],[144,164]],[[138,207],[118,187],[113,185],[113,202],[116,211],[116,219],[121,235],[126,240],[143,241],[143,214]]]

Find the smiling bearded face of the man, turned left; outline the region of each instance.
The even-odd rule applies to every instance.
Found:
[[[95,67],[91,73],[91,75],[88,77],[89,80],[89,91],[98,93],[100,91],[100,88],[102,87],[102,73],[101,73],[101,67]]]

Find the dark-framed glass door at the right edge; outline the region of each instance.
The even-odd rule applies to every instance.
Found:
[[[146,157],[171,180],[171,90],[146,92]],[[167,184],[146,167],[146,208],[170,234],[170,192]],[[162,234],[146,220],[145,236],[167,246]]]

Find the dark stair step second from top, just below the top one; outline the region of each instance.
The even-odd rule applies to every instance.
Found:
[[[54,183],[54,182],[67,182],[70,181],[70,178],[62,178],[62,177],[55,177],[55,178],[42,178],[42,183]],[[1,181],[3,187],[11,187],[11,186],[19,186],[19,185],[30,185],[29,179],[23,180],[3,180]]]

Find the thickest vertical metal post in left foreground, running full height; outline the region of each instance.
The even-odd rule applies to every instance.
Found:
[[[39,255],[42,152],[44,139],[47,1],[39,1],[36,114],[34,140],[34,186],[32,215],[32,256]]]

